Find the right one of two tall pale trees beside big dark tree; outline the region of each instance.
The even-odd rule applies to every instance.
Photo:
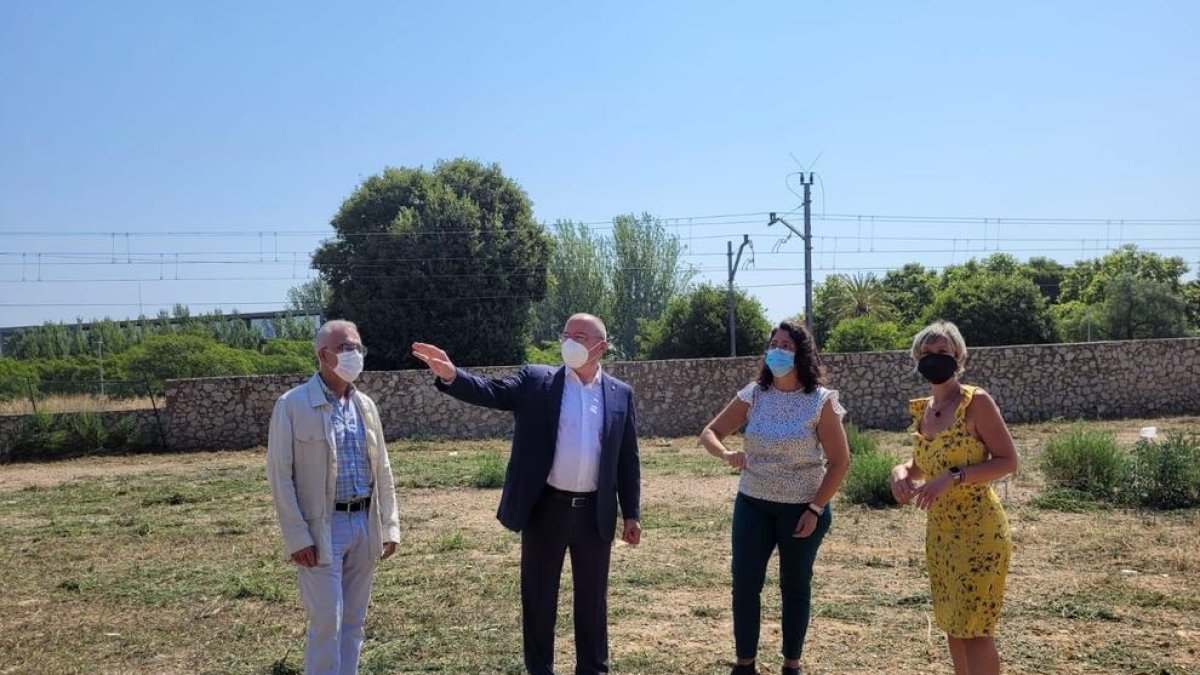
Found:
[[[695,270],[683,262],[683,252],[679,238],[649,214],[613,220],[613,306],[607,324],[618,356],[632,357],[640,323],[658,319],[691,283]]]

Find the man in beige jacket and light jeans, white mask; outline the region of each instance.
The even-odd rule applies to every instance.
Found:
[[[366,348],[358,328],[317,331],[320,369],[271,413],[266,479],[308,610],[305,673],[358,671],[374,566],[396,552],[400,513],[379,410],[353,382]]]

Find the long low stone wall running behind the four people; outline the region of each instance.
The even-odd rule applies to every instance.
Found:
[[[928,386],[905,352],[829,354],[829,387],[848,419],[902,429],[907,400]],[[606,371],[637,393],[644,436],[700,429],[756,374],[755,357],[614,363]],[[503,376],[514,368],[475,372]],[[301,376],[181,380],[167,384],[168,446],[245,448],[266,441],[271,407]],[[971,350],[966,382],[986,388],[1009,422],[1200,413],[1200,339],[985,347]],[[510,413],[461,404],[433,388],[427,371],[366,372],[360,388],[379,405],[390,438],[496,437]]]

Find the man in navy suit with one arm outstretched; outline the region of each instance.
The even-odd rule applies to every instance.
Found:
[[[641,468],[634,390],[602,372],[607,331],[578,313],[560,335],[564,366],[529,365],[485,380],[456,369],[446,353],[418,342],[413,354],[451,396],[516,419],[497,518],[521,532],[521,616],[524,663],[553,675],[554,617],[563,558],[575,581],[575,673],[608,673],[608,560],[622,539],[637,545]]]

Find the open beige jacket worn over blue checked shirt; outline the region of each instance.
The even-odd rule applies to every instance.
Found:
[[[376,561],[385,542],[400,542],[400,510],[391,461],[383,438],[379,410],[370,396],[354,390],[362,417],[373,486],[367,527]],[[271,413],[266,442],[266,482],[283,532],[283,558],[316,545],[317,563],[330,565],[330,521],[337,484],[337,443],[334,410],[325,400],[320,375],[280,396]]]

